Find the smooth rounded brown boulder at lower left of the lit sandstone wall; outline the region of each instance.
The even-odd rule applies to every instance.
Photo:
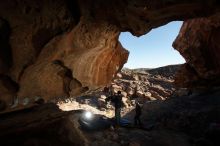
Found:
[[[40,96],[49,100],[54,97],[69,96],[65,90],[67,85],[59,75],[61,72],[64,72],[61,66],[46,62],[30,67],[20,81],[18,97]]]

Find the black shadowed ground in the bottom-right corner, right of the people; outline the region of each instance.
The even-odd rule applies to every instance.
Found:
[[[148,102],[142,107],[143,127],[149,129],[151,140],[161,145],[168,146],[171,142],[171,145],[179,146],[178,142],[184,141],[181,145],[219,146],[219,97],[219,90],[210,90]],[[134,115],[133,110],[123,118],[133,120]]]

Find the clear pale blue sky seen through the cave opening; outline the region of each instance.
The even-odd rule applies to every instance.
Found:
[[[128,62],[124,67],[131,69],[156,68],[184,63],[183,57],[172,47],[181,25],[181,21],[170,22],[141,37],[135,37],[129,32],[122,32],[119,41],[130,52]]]

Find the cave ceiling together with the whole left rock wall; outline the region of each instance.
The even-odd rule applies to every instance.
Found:
[[[216,14],[219,7],[216,0],[1,1],[0,74],[7,79],[0,82],[1,102],[50,100],[104,86],[128,58],[118,42],[121,31],[140,36],[173,20]]]

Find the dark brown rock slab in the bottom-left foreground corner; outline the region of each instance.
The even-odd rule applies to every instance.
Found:
[[[63,112],[54,104],[45,104],[12,112],[9,116],[2,114],[0,115],[1,144],[86,145],[86,140],[77,127],[79,113],[80,111]]]

